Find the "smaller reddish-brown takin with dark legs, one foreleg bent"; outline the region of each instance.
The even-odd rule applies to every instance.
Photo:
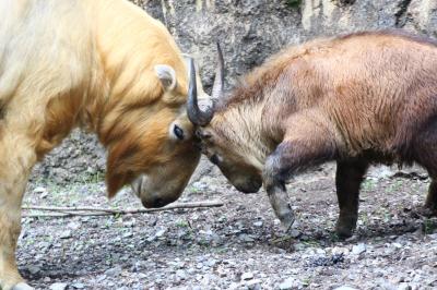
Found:
[[[264,184],[286,229],[285,182],[336,161],[336,232],[356,227],[359,185],[370,164],[416,162],[437,209],[437,43],[401,32],[364,32],[291,47],[223,97],[223,57],[209,110],[189,93],[188,116],[203,153],[243,192]]]

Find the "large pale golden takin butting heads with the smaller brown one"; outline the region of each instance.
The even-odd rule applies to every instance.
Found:
[[[31,289],[15,264],[21,203],[35,162],[74,126],[108,150],[114,196],[175,201],[200,153],[188,72],[165,26],[123,0],[0,1],[0,289]],[[182,170],[181,170],[182,168]]]

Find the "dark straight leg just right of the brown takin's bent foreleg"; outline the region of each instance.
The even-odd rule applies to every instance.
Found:
[[[336,162],[335,186],[340,216],[335,232],[340,238],[349,238],[358,219],[359,185],[368,168],[366,160],[344,160]]]

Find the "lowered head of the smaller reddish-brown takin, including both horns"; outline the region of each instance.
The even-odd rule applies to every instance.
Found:
[[[220,45],[217,50],[218,67],[212,89],[212,106],[203,110],[200,108],[197,85],[194,82],[190,83],[188,118],[197,126],[196,135],[200,140],[201,152],[220,168],[238,191],[255,193],[262,186],[261,169],[257,160],[248,160],[244,148],[235,146],[236,143],[246,143],[245,136],[234,130],[233,122],[238,120],[227,120],[222,112],[214,113],[215,104],[218,99],[223,99],[224,94],[224,60]],[[191,78],[196,81],[193,63],[190,65],[190,71]]]

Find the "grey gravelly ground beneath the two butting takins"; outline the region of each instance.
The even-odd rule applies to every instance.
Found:
[[[437,219],[420,214],[429,181],[393,172],[368,173],[358,229],[346,241],[333,232],[333,165],[288,184],[298,217],[291,235],[264,192],[239,193],[214,171],[179,202],[223,207],[23,218],[19,268],[37,289],[437,289]],[[35,182],[24,205],[141,207],[129,190],[108,202],[97,180]]]

